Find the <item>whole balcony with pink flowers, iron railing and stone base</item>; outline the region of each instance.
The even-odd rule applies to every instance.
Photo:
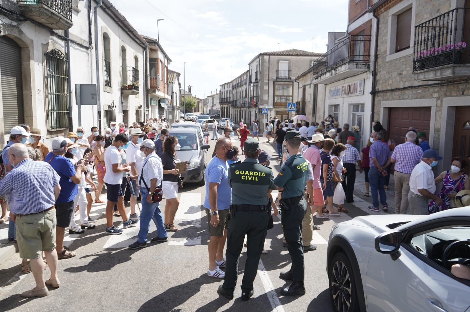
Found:
[[[470,76],[469,8],[454,8],[415,26],[413,73],[420,81]]]

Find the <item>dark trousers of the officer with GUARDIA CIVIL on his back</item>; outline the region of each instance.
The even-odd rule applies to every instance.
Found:
[[[225,282],[226,293],[233,294],[238,275],[238,259],[243,248],[246,234],[245,273],[243,274],[242,291],[253,290],[253,281],[258,271],[259,257],[263,251],[266,238],[268,213],[260,211],[237,211],[230,216],[227,230],[227,251],[225,253]]]

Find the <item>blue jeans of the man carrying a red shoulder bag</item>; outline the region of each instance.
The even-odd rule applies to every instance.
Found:
[[[147,196],[149,191],[145,188],[141,188],[142,195],[142,210],[140,215],[141,228],[139,229],[139,238],[137,241],[139,243],[147,242],[147,234],[149,234],[150,221],[153,220],[157,226],[157,236],[166,237],[165,226],[163,224],[162,212],[160,211],[160,203],[148,203]]]

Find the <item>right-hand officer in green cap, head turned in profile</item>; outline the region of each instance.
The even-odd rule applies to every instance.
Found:
[[[286,133],[286,149],[290,158],[282,166],[274,184],[281,192],[282,231],[287,242],[292,266],[288,272],[282,272],[280,277],[293,282],[281,290],[283,296],[304,295],[304,245],[300,238],[302,219],[306,212],[307,203],[304,190],[307,181],[307,160],[299,153],[300,132]]]

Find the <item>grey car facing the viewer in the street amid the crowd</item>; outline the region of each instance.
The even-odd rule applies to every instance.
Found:
[[[185,174],[181,174],[183,183],[204,185],[205,159],[210,146],[204,144],[201,132],[198,129],[175,128],[171,129],[170,134],[177,137],[181,145],[180,150],[176,152],[176,156],[181,161],[188,161],[188,170]]]

